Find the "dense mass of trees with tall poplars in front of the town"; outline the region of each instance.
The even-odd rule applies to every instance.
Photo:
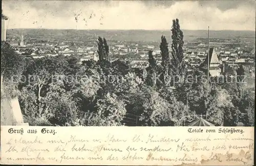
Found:
[[[203,114],[225,126],[238,122],[254,126],[254,96],[242,91],[241,82],[211,81],[207,87],[204,79],[195,79],[202,72],[194,69],[191,81],[179,82],[175,89],[165,84],[166,77],[187,75],[178,19],[173,20],[172,34],[172,59],[162,36],[163,62],[157,65],[149,51],[145,70],[131,68],[129,62],[110,62],[109,46],[100,37],[99,61],[82,64],[62,56],[23,59],[2,44],[1,74],[6,80],[11,75],[24,76],[17,87],[18,98],[31,125],[116,126],[122,125],[126,114],[133,114],[138,125],[177,126],[183,125],[184,116]],[[159,74],[164,77],[158,79]]]

